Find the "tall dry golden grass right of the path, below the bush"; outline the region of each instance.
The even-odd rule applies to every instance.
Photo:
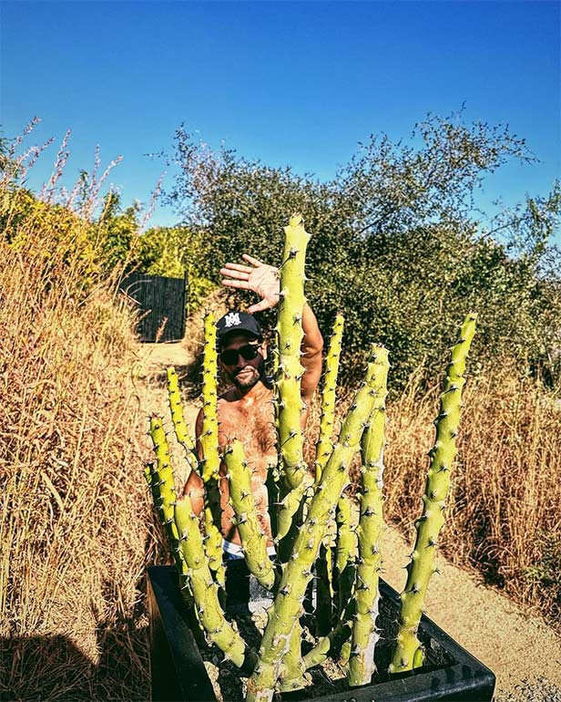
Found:
[[[451,562],[559,624],[559,394],[515,366],[469,377],[440,548]],[[415,383],[388,407],[386,521],[412,541],[434,438],[438,387]]]

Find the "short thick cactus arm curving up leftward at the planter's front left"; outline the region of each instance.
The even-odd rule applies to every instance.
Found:
[[[179,533],[179,549],[187,563],[187,574],[199,622],[204,627],[210,641],[216,644],[236,666],[243,666],[252,655],[240,634],[224,616],[219,604],[218,585],[212,580],[202,537],[199,520],[191,509],[189,498],[183,498],[175,505],[175,524]]]

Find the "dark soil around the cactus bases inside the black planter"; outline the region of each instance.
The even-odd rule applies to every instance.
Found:
[[[265,611],[254,614],[230,614],[230,619],[237,622],[240,635],[248,645],[255,650],[259,648],[261,633],[266,625],[267,616]],[[395,605],[385,599],[380,601],[380,615],[377,621],[378,627],[382,630],[381,639],[376,645],[374,659],[378,668],[377,673],[372,676],[372,684],[382,683],[390,679],[387,674],[388,666],[393,656],[393,642],[397,635],[397,610]],[[425,663],[423,667],[416,668],[416,672],[424,673],[428,670],[441,668],[454,664],[454,660],[449,656],[442,646],[438,645],[430,636],[420,632],[419,637],[425,649]],[[303,652],[311,649],[313,637],[304,630]],[[242,702],[245,698],[246,678],[240,676],[239,669],[230,661],[222,661],[224,656],[214,646],[201,649],[207,673],[209,674],[214,693],[220,702]],[[302,690],[283,696],[286,699],[312,699],[322,697],[337,692],[349,690],[347,683],[347,671],[339,666],[335,661],[328,658],[321,666],[315,666],[308,671],[311,674],[311,685]],[[280,695],[275,695],[275,700],[280,701]]]

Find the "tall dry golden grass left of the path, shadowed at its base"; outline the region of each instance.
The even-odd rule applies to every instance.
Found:
[[[82,212],[0,188],[0,692],[148,698],[132,314]]]

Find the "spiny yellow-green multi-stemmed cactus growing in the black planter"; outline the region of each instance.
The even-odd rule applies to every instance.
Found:
[[[260,528],[242,443],[232,441],[222,457],[246,563],[250,573],[274,594],[258,654],[244,644],[219,602],[224,567],[222,537],[217,524],[220,523],[219,480],[224,480],[224,476],[219,476],[216,327],[210,313],[204,320],[200,460],[183,420],[177,374],[173,368],[168,368],[169,405],[176,436],[185,449],[191,469],[198,470],[203,478],[204,538],[189,498],[176,499],[168,444],[159,418],[151,422],[157,465],[145,469],[154,503],[166,525],[186,602],[192,605],[208,640],[242,668],[241,675],[250,676],[249,702],[270,702],[275,690],[289,692],[304,687],[310,679],[306,671],[320,665],[328,656],[347,666],[351,687],[369,683],[376,672],[374,648],[378,640],[376,619],[382,564],[382,458],[388,355],[382,346],[372,346],[366,379],[349,408],[339,437],[334,439],[335,387],[343,327],[342,315],[337,315],[326,356],[321,430],[312,477],[302,451],[301,318],[305,302],[304,257],[309,235],[300,215],[291,217],[285,234],[276,329],[278,349],[273,352],[273,402],[279,458],[277,465],[270,466],[267,480],[271,527],[277,546],[275,563],[270,560],[267,538]],[[444,501],[454,461],[454,438],[464,385],[464,362],[473,335],[474,316],[470,315],[464,321],[462,339],[454,346],[452,363],[448,367],[423,498],[424,511],[417,522],[417,540],[402,594],[401,629],[390,672],[401,672],[423,661],[416,631],[426,585],[433,573],[436,540],[444,521]],[[349,466],[359,449],[362,451],[362,481],[357,503],[343,494],[343,490],[349,483]],[[302,616],[305,614],[304,598],[314,563],[319,578],[315,631],[321,637],[311,651],[302,656],[304,627],[309,627],[310,622],[309,608]],[[334,606],[337,594],[338,603]]]

